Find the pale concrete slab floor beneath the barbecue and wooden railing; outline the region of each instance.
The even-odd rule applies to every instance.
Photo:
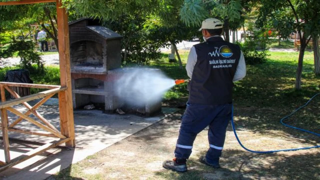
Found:
[[[50,101],[49,101],[50,102]],[[54,100],[53,100],[54,102]],[[36,102],[30,103],[31,105]],[[60,129],[59,106],[50,103],[53,106],[41,106],[38,112],[44,116],[54,127]],[[26,112],[24,106],[14,106],[20,112]],[[163,108],[164,114],[173,113],[178,109]],[[153,123],[161,120],[165,115],[155,117],[140,117],[136,115],[118,115],[105,114],[99,110],[76,110],[74,112],[75,132],[76,132],[76,148],[68,150],[62,144],[59,147],[52,148],[38,156],[24,161],[12,168],[0,173],[1,180],[42,180],[46,177],[67,168],[70,164],[83,160],[89,155],[97,153],[108,146],[119,142],[141,129],[144,129]],[[17,116],[12,113],[9,115],[9,124],[14,121]],[[33,115],[30,117],[36,119]],[[21,121],[17,128],[29,130],[40,130],[26,120]],[[11,159],[18,157],[28,151],[35,149],[58,138],[40,137],[35,135],[26,135],[20,133],[9,133],[9,138],[19,139],[10,140],[10,156]],[[30,143],[40,142],[40,143]],[[4,161],[4,151],[1,142],[0,160]]]

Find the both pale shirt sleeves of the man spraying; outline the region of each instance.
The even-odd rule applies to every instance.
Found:
[[[196,48],[193,46],[188,55],[188,60],[186,65],[187,74],[190,78],[192,77],[193,69],[196,65],[196,62],[197,62],[197,53],[196,53]],[[244,55],[243,55],[243,52],[241,51],[239,63],[236,68],[236,73],[235,73],[235,76],[233,77],[233,82],[243,79],[244,76],[246,75],[246,71],[247,70],[245,67]]]

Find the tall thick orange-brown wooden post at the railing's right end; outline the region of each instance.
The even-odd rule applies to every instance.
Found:
[[[62,135],[70,137],[70,140],[66,142],[66,146],[75,147],[68,15],[66,9],[62,8],[60,0],[56,0],[56,8],[58,21],[60,83],[62,87],[67,87],[67,90],[59,93],[60,128]]]

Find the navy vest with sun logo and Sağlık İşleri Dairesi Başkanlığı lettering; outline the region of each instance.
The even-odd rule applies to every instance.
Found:
[[[197,62],[189,86],[188,102],[206,105],[232,103],[232,80],[241,55],[240,47],[219,36],[194,47]]]

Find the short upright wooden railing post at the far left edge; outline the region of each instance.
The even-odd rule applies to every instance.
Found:
[[[4,102],[5,99],[5,92],[4,87],[0,86],[1,92],[1,101]],[[10,162],[10,150],[9,150],[9,137],[8,137],[8,114],[7,110],[1,108],[1,126],[2,126],[2,137],[3,137],[3,147],[4,147],[4,158],[5,162]]]

